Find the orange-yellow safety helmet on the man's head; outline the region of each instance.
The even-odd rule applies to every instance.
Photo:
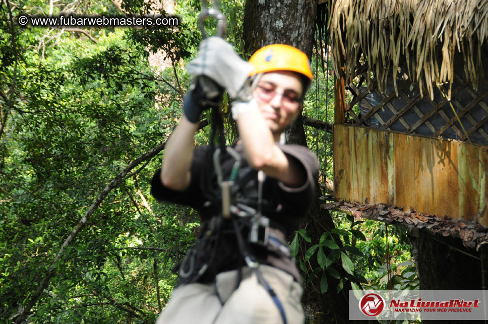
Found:
[[[249,62],[255,68],[251,75],[272,71],[293,71],[312,80],[309,58],[301,50],[284,44],[273,44],[258,49]]]

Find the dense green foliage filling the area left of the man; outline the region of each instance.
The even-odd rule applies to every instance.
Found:
[[[37,5],[13,15],[47,12]],[[14,37],[8,16],[2,2],[0,316],[13,319],[103,188],[168,137],[188,76],[179,64],[155,73],[130,29],[89,30],[96,44],[66,32],[48,41],[58,30],[14,25]],[[196,49],[189,42],[181,46]],[[29,320],[154,322],[158,298],[164,306],[175,284],[170,269],[198,227],[190,209],[150,198],[160,161],[145,161],[109,192],[53,265]]]

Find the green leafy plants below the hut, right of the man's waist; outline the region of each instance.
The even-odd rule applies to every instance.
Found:
[[[334,217],[337,228],[325,231],[319,243],[310,246],[302,256],[298,255],[299,238],[307,242],[311,242],[311,238],[305,229],[295,233],[291,251],[304,273],[304,282],[320,278],[323,293],[328,291],[331,280],[338,280],[337,292],[346,283],[350,283],[353,290],[389,289],[389,282],[392,289],[418,289],[417,272],[409,245],[405,243],[405,230],[391,227],[387,237],[383,223],[354,221],[352,216],[343,217],[336,212]],[[387,260],[387,240],[390,260]],[[391,264],[390,275],[387,262]],[[318,267],[310,268],[313,264]]]

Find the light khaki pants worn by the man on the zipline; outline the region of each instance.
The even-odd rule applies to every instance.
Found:
[[[259,266],[259,271],[283,305],[288,324],[302,324],[300,284],[273,267]],[[156,324],[283,324],[278,307],[250,268],[242,268],[242,281],[234,291],[236,279],[233,270],[218,274],[215,285],[195,283],[174,289]]]

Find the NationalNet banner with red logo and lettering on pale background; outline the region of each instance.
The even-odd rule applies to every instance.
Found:
[[[482,320],[487,301],[488,290],[350,290],[349,319]]]

